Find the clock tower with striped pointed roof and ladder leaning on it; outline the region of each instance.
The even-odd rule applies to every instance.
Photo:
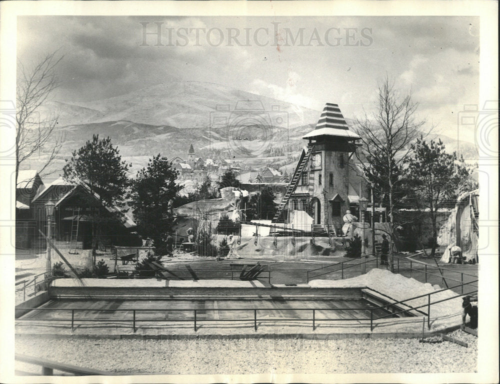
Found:
[[[295,168],[290,185],[278,208],[306,211],[313,223],[326,229],[342,226],[349,207],[349,159],[360,137],[349,130],[337,104],[327,103]]]

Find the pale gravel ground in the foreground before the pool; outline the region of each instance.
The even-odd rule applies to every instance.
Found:
[[[468,343],[417,339],[110,340],[18,337],[16,353],[118,374],[462,373],[477,370],[477,338]],[[39,374],[39,367],[16,363]],[[54,372],[54,374],[57,374]]]

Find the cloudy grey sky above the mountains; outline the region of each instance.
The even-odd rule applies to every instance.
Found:
[[[457,135],[478,103],[476,16],[19,16],[17,57],[64,55],[54,99],[103,99],[171,81],[205,81],[346,118],[373,109],[388,76],[418,118]],[[461,129],[461,128],[460,128]],[[460,139],[474,141],[473,132]]]

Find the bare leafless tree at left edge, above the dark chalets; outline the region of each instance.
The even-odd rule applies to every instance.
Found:
[[[42,111],[42,105],[48,101],[52,91],[59,86],[55,67],[62,60],[56,57],[57,51],[47,54],[32,69],[26,69],[18,62],[16,88],[17,131],[15,136],[15,184],[19,166],[35,155],[44,151],[47,159],[43,161],[38,174],[40,177],[51,174],[47,167],[55,159],[62,145],[62,135],[55,134],[58,114]],[[45,116],[44,116],[45,115]]]

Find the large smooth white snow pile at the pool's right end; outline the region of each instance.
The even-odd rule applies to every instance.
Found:
[[[439,286],[432,286],[429,283],[421,283],[412,278],[406,278],[401,275],[392,274],[390,271],[382,269],[372,269],[368,273],[354,277],[352,279],[345,280],[312,280],[309,282],[309,286],[312,288],[371,288],[378,291],[390,298],[400,301],[409,299],[411,297],[428,295],[435,291],[441,290]],[[452,291],[443,291],[430,296],[430,302],[436,302],[439,300],[447,299],[456,296]],[[419,308],[420,311],[427,312],[428,296],[422,298],[410,300],[404,304],[418,307],[425,305],[425,307]],[[461,299],[455,298],[447,300],[442,303],[437,303],[431,305],[430,316],[447,316],[451,314],[460,313]]]

